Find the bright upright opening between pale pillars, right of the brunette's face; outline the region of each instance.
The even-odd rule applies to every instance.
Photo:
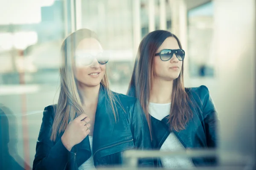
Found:
[[[213,2],[188,11],[188,55],[191,77],[213,77]]]

